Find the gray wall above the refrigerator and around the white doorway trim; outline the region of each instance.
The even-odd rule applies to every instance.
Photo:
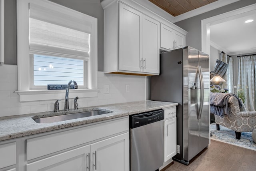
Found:
[[[234,2],[232,4],[217,8],[215,10],[211,10],[209,12],[205,12],[198,16],[194,16],[192,18],[188,18],[186,20],[182,20],[180,22],[176,22],[177,26],[183,28],[188,32],[186,36],[186,46],[191,46],[198,50],[202,50],[201,45],[201,20],[206,18],[210,18],[212,16],[216,16],[219,14],[223,14],[232,10],[236,10],[238,8],[242,8],[244,6],[248,6],[251,4],[255,4],[255,0],[240,0],[238,2]]]

